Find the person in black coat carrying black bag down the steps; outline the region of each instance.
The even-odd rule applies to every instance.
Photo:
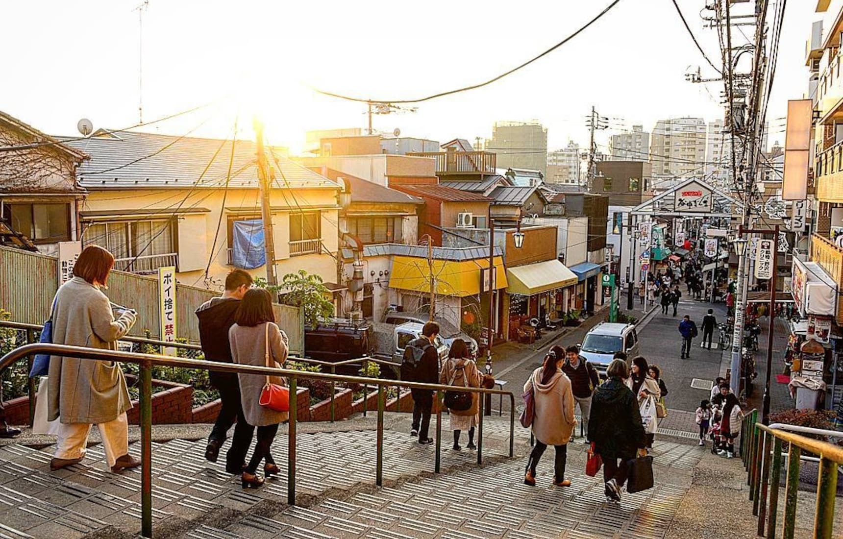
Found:
[[[626,483],[626,463],[647,455],[647,437],[635,394],[624,383],[630,376],[626,361],[614,359],[606,369],[608,380],[594,391],[588,439],[603,459],[606,500],[620,502],[620,488]]]

